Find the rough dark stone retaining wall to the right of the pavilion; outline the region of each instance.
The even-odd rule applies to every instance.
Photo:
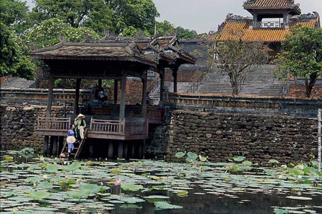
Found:
[[[296,163],[317,156],[317,120],[312,118],[176,110],[170,124],[168,160],[179,151],[211,162],[243,155],[263,165],[269,159]]]

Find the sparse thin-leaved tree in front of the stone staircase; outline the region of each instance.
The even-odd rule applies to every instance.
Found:
[[[211,52],[214,66],[222,75],[229,75],[233,95],[238,95],[247,73],[261,64],[267,64],[269,59],[269,48],[264,43],[243,41],[240,35],[237,38],[218,41],[214,52]]]

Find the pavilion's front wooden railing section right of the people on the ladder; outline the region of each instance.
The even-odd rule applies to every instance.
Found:
[[[91,132],[97,133],[115,133],[124,134],[125,119],[118,120],[105,120],[105,119],[91,119]]]

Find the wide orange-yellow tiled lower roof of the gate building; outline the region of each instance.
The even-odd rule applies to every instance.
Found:
[[[292,23],[290,28],[301,25],[303,27],[314,28],[316,21]],[[220,35],[216,38],[219,41],[236,41],[240,37],[243,41],[284,41],[285,36],[290,34],[287,29],[260,28],[249,29],[247,21],[227,21]]]

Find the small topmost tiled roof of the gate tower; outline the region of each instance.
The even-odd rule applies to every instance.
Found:
[[[244,8],[294,8],[296,5],[288,0],[256,0],[244,3]]]

